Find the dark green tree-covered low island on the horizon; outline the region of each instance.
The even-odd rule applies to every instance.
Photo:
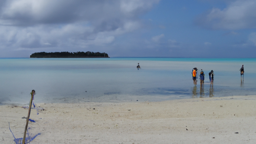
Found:
[[[109,58],[108,54],[100,52],[36,52],[30,58]]]

